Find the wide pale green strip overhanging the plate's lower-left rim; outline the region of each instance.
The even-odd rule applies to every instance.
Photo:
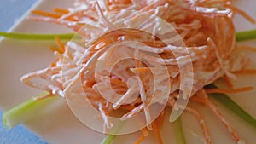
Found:
[[[22,124],[32,118],[36,118],[44,111],[46,107],[53,103],[54,101],[59,100],[59,96],[51,96],[44,99],[37,99],[38,97],[49,95],[48,92],[44,92],[40,95],[37,95],[34,98],[31,98],[20,105],[9,109],[7,112],[3,113],[3,125],[10,129],[15,127],[17,124]]]

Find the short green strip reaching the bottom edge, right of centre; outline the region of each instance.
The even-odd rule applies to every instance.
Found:
[[[173,123],[175,135],[177,137],[177,144],[186,144],[186,139],[183,133],[183,125],[181,121],[181,117],[177,118],[177,120]]]

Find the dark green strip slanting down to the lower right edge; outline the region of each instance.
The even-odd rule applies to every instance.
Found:
[[[213,84],[207,86],[207,88],[218,88]],[[249,113],[247,113],[244,109],[242,109],[239,105],[236,104],[235,101],[230,99],[228,95],[212,93],[211,98],[218,101],[224,107],[227,107],[231,112],[236,113],[236,115],[243,120],[245,120],[248,124],[252,124],[256,128],[256,119],[253,118]]]

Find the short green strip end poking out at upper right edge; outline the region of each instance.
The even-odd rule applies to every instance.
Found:
[[[256,30],[236,32],[236,42],[246,41],[256,38]]]

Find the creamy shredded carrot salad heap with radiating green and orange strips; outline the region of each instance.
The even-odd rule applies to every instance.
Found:
[[[233,18],[241,14],[252,23],[255,20],[232,5],[232,1],[78,0],[72,8],[54,11],[32,10],[37,16],[28,19],[64,25],[74,33],[2,33],[21,39],[54,38],[59,46],[54,49],[53,63],[21,78],[24,84],[47,92],[5,112],[3,122],[7,127],[22,123],[24,114],[31,114],[26,112],[27,107],[45,107],[45,101],[58,96],[67,101],[85,125],[89,122],[84,114],[88,113],[80,112],[75,105],[88,104],[97,110],[101,117],[96,119],[102,125],[99,128],[88,125],[108,134],[102,143],[111,143],[117,134],[137,130],[142,130],[142,135],[135,143],[142,142],[150,130],[158,143],[163,143],[160,127],[166,109],[172,109],[169,119],[175,121],[179,143],[186,143],[180,123],[180,115],[185,111],[197,118],[204,142],[211,144],[211,134],[201,113],[187,106],[189,101],[195,101],[212,110],[235,143],[246,143],[209,99],[212,95],[239,117],[256,125],[255,118],[225,95],[253,90],[251,85],[233,88],[231,79],[236,79],[236,73],[256,72],[247,68],[250,62],[247,57],[237,54],[240,49],[255,51],[237,45],[238,41],[255,37],[255,32],[236,33]],[[73,39],[67,43],[61,42],[70,37]],[[213,84],[219,78],[224,79],[229,89],[218,89]],[[124,123],[117,123],[114,118]],[[130,123],[131,118],[137,118],[140,124],[129,124],[132,128],[127,130],[125,123]]]

